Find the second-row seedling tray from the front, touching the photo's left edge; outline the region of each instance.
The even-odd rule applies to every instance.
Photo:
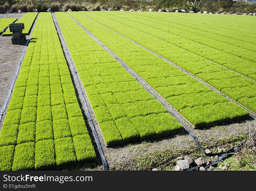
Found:
[[[3,125],[0,133],[0,146],[15,144],[18,134],[18,124]]]

